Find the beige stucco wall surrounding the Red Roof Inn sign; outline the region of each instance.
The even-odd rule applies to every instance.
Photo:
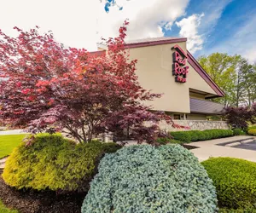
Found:
[[[146,102],[154,110],[189,113],[189,88],[216,95],[213,89],[189,65],[187,83],[175,82],[172,76],[172,47],[178,44],[186,52],[186,43],[169,43],[130,49],[131,59],[137,59],[138,80],[145,89],[163,94],[160,99]]]

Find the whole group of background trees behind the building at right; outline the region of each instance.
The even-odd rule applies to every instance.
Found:
[[[199,58],[201,66],[224,90],[225,97],[214,99],[225,107],[252,106],[256,101],[256,66],[251,65],[241,55],[214,53]]]

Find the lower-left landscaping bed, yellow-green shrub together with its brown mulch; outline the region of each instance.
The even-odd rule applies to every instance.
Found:
[[[81,212],[99,160],[119,148],[100,141],[76,144],[58,134],[28,137],[0,172],[0,200],[20,213]]]

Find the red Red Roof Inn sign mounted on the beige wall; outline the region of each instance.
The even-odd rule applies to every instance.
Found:
[[[177,44],[172,47],[175,50],[173,53],[172,75],[175,76],[175,81],[178,83],[187,82],[187,74],[189,73],[189,66],[187,64],[187,55]]]

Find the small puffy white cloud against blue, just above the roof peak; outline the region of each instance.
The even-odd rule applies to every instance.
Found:
[[[204,14],[192,14],[188,18],[183,18],[176,22],[176,25],[181,28],[179,35],[188,38],[187,49],[191,53],[202,49],[203,38],[198,33],[198,27],[201,24],[201,18],[203,16]]]

